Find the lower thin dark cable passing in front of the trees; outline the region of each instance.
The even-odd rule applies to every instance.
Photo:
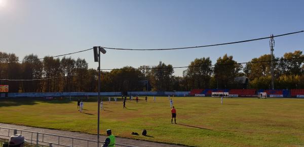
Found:
[[[225,66],[225,65],[237,65],[237,64],[250,64],[250,63],[263,63],[263,62],[271,62],[271,61],[288,61],[288,60],[298,60],[303,59],[304,57],[300,58],[290,58],[290,59],[279,59],[279,60],[268,60],[268,61],[254,61],[254,62],[242,62],[242,63],[234,63],[234,64],[213,64],[213,65],[203,65],[203,66],[180,66],[180,67],[172,67],[174,68],[191,68],[191,67],[206,67],[206,66]],[[155,68],[133,68],[133,70],[143,70],[143,69],[168,69],[169,67],[155,67]],[[100,70],[130,70],[130,69],[100,69]],[[97,71],[97,70],[95,70]],[[95,72],[94,71],[94,72]],[[48,80],[48,79],[56,79],[56,78],[63,78],[68,76],[59,76],[59,77],[52,77],[52,78],[42,78],[42,79],[0,79],[3,81],[35,81],[35,80]]]

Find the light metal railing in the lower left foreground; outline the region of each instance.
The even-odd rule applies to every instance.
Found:
[[[9,139],[14,134],[22,134],[27,143],[35,146],[97,146],[96,140],[0,127],[0,138]],[[101,146],[102,142],[99,144]],[[116,146],[136,147],[120,143]]]

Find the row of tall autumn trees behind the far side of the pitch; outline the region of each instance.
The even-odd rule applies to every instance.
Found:
[[[288,60],[294,59],[295,60]],[[274,58],[275,88],[304,88],[304,55],[302,51],[285,53]],[[209,57],[197,58],[175,76],[170,64],[160,62],[155,66],[138,68],[125,66],[111,71],[101,71],[101,91],[189,91],[206,88],[271,88],[271,55],[253,58],[251,63],[237,64],[233,56],[219,57],[212,65]],[[8,84],[10,92],[96,92],[98,72],[88,68],[85,59],[62,59],[27,55],[18,62],[15,54],[0,52],[0,79]],[[44,79],[44,80],[31,80]]]

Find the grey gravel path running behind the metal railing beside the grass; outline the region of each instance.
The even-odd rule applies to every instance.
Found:
[[[0,123],[0,127],[48,133],[48,134],[56,134],[56,135],[62,135],[62,136],[77,137],[77,138],[90,139],[90,140],[97,140],[97,135],[80,133],[80,132],[35,128],[35,127],[27,127],[27,126],[21,126],[21,125],[5,124],[5,123]],[[18,133],[21,133],[21,132],[18,131]],[[3,136],[3,135],[8,135],[8,130],[1,129],[0,135],[1,135],[0,138],[8,139],[8,137]],[[12,131],[10,132],[10,135],[13,135]],[[31,139],[31,137],[32,137],[31,133],[22,132],[22,135],[24,135],[25,138],[28,139],[27,142],[30,142],[29,139]],[[35,140],[36,134],[33,134],[32,138]],[[54,137],[54,136],[50,136],[50,135],[44,135],[44,136],[39,135],[39,140],[41,140],[42,138],[44,138],[44,141],[47,141],[47,142],[57,142],[58,143],[58,137]],[[106,136],[102,136],[102,135],[100,136],[101,141],[103,141],[105,138],[106,138]],[[35,143],[35,141],[33,141],[33,143]],[[72,140],[70,138],[61,138],[60,137],[60,144],[61,143],[71,145]],[[143,141],[143,140],[136,140],[136,139],[120,138],[120,137],[116,137],[116,143],[134,145],[134,146],[180,146],[180,145],[172,145],[172,144],[157,143],[157,142],[151,142],[151,141]],[[62,145],[54,145],[54,146],[62,146]],[[88,141],[75,139],[75,140],[73,140],[73,146],[81,146],[81,147],[97,146],[97,143],[95,143],[95,142],[88,143]],[[116,146],[124,146],[124,145],[116,145]]]

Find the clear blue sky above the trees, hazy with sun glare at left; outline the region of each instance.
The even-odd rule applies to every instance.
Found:
[[[304,1],[78,1],[0,0],[0,51],[20,59],[85,50],[207,45],[304,30]],[[304,51],[304,33],[275,38],[275,56]],[[115,51],[101,68],[187,66],[195,58],[224,54],[247,62],[269,54],[269,40],[178,51]],[[96,68],[93,51],[74,54]],[[185,69],[175,69],[182,75]]]

